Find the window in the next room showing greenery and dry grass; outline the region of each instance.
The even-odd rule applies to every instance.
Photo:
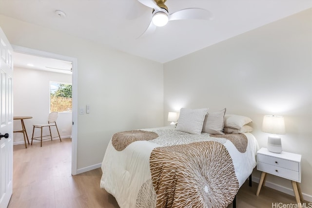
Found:
[[[50,82],[50,112],[72,112],[72,84]]]

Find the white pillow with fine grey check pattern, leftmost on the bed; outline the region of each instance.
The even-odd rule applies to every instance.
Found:
[[[208,108],[187,109],[181,108],[176,130],[181,132],[200,134]]]

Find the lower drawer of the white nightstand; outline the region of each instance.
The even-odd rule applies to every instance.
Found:
[[[270,165],[267,163],[262,163],[258,161],[257,169],[263,172],[267,172],[273,175],[277,175],[283,178],[290,179],[292,181],[299,181],[299,172],[294,170],[289,170],[281,168],[278,166]]]

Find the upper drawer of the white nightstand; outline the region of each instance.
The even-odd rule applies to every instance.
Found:
[[[289,170],[299,171],[299,163],[295,161],[285,160],[278,157],[272,157],[264,154],[258,154],[258,162],[267,163],[269,165],[285,168]],[[274,170],[275,171],[275,170]]]

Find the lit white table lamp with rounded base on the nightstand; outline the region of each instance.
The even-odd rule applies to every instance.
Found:
[[[285,134],[285,121],[283,116],[265,115],[263,116],[262,132],[273,134]],[[282,152],[281,137],[278,135],[269,135],[268,151],[275,153]]]

